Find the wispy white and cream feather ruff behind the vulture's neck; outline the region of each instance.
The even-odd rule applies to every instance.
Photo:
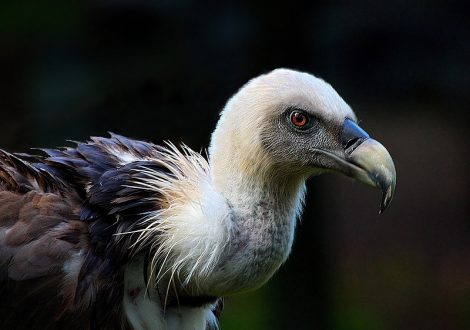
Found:
[[[137,229],[121,235],[138,234],[137,251],[150,246],[151,281],[165,278],[168,287],[176,279],[183,286],[203,283],[228,242],[225,200],[213,190],[207,160],[189,147],[180,150],[167,143],[152,163],[157,166],[134,169],[139,175],[129,187],[153,192],[159,208],[144,214]]]

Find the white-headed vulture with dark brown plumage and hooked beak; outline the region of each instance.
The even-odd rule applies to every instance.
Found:
[[[394,195],[388,151],[311,74],[248,81],[207,155],[121,135],[0,150],[0,329],[217,329],[289,256],[309,177]]]

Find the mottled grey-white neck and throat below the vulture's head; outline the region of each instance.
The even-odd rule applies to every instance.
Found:
[[[257,289],[287,259],[305,193],[300,179],[238,184],[233,180],[226,196],[231,237],[211,284],[221,295]]]

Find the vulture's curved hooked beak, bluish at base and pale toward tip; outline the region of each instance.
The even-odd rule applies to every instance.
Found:
[[[342,172],[382,191],[380,212],[390,205],[395,193],[396,171],[387,149],[369,137],[354,121],[345,119],[341,135],[345,160]]]

